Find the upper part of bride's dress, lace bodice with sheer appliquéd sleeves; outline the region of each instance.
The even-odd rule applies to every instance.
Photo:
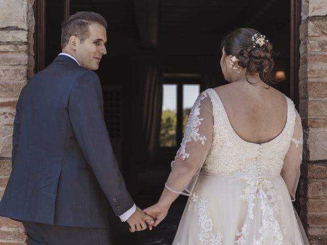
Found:
[[[214,89],[202,92],[190,112],[166,187],[191,195],[201,167],[212,175],[244,177],[276,176],[283,168],[282,176],[294,197],[302,155],[302,127],[292,101],[288,97],[286,100],[288,113],[283,131],[267,143],[256,144],[236,134]]]

